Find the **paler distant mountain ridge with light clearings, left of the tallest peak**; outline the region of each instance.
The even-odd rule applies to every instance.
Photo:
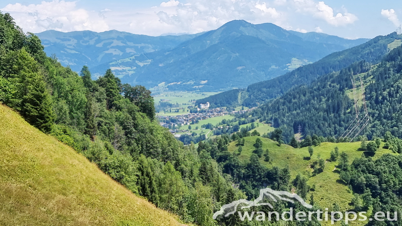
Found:
[[[93,69],[98,65],[135,55],[171,49],[199,34],[152,37],[116,30],[100,33],[92,31],[65,33],[49,30],[36,35],[41,39],[47,55],[56,54],[62,65],[70,66],[73,71],[80,71],[83,65]],[[116,72],[122,70],[114,65],[110,68]],[[102,74],[106,69],[99,73]]]

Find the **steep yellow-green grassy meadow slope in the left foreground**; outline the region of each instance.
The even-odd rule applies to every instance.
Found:
[[[0,104],[0,225],[182,225]]]

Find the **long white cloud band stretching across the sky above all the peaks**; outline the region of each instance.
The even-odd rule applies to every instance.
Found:
[[[347,25],[357,20],[355,15],[348,14],[346,10],[342,12],[343,14],[336,12],[338,14],[334,16],[333,9],[324,2],[314,0],[263,1],[186,0],[180,3],[176,0],[165,0],[160,6],[152,8],[113,11],[104,9],[93,12],[90,11],[91,9],[80,9],[76,2],[53,0],[51,2],[43,1],[37,5],[9,4],[0,10],[11,13],[18,25],[25,31],[34,33],[49,29],[62,32],[77,30],[103,32],[115,29],[153,36],[166,33],[194,34],[217,29],[232,20],[245,20],[253,24],[273,23],[290,30],[292,27],[287,20],[295,17],[295,12],[303,13],[311,18],[318,18],[333,26]],[[314,30],[314,27],[305,28],[308,28],[309,31]],[[306,30],[299,31],[305,32]]]

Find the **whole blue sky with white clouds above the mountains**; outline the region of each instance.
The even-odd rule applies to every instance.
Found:
[[[357,39],[387,35],[402,24],[400,0],[2,0],[0,11],[10,13],[25,32],[33,33],[195,34],[245,20]]]

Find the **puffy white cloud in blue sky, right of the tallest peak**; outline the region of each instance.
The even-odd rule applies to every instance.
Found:
[[[312,0],[293,0],[293,2],[298,9],[297,11],[309,13],[335,27],[353,24],[358,20],[356,15],[346,12],[346,10],[344,14],[337,13],[334,16],[334,10],[324,2],[316,3]]]

